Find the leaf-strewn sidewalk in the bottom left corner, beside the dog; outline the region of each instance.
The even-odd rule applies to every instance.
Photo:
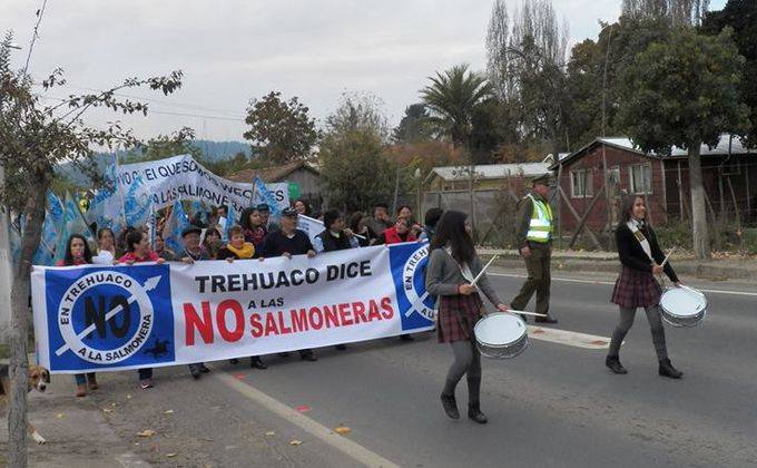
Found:
[[[45,393],[29,393],[29,420],[47,443],[30,438],[29,467],[149,467],[108,425],[89,398],[76,398],[72,376],[53,376]],[[8,457],[8,419],[0,420],[0,466]]]

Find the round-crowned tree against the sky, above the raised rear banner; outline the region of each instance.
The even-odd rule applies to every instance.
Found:
[[[262,99],[253,99],[245,118],[250,128],[244,137],[271,164],[305,159],[318,140],[309,109],[296,96],[288,101],[281,97],[279,91],[271,91]]]

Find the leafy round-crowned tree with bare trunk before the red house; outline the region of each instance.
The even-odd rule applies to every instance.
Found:
[[[700,259],[710,255],[700,147],[748,124],[743,67],[730,29],[706,37],[681,28],[669,42],[639,53],[622,77],[618,117],[633,143],[658,154],[669,154],[672,146],[688,150],[694,248]]]

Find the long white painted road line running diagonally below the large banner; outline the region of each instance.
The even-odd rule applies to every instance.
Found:
[[[397,467],[396,464],[383,458],[378,454],[368,450],[360,443],[347,439],[344,436],[340,436],[314,419],[296,411],[294,408],[289,408],[281,401],[263,393],[262,391],[252,387],[249,383],[240,382],[236,378],[223,372],[218,368],[215,370],[217,370],[217,372],[212,374],[213,378],[220,380],[224,384],[226,384],[226,387],[236,390],[248,400],[262,406],[286,421],[292,422],[317,439],[323,440],[325,443],[328,443],[355,461],[368,467]]]

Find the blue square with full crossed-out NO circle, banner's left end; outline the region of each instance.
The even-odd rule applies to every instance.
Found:
[[[53,369],[173,360],[168,266],[48,270],[47,283]]]

